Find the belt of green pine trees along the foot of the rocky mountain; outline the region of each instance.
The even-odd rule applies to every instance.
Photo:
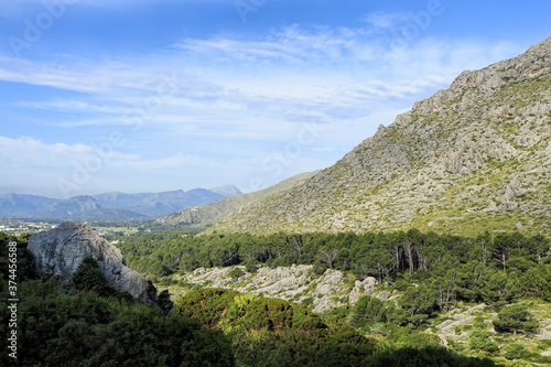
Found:
[[[486,233],[476,238],[397,233],[306,234],[270,236],[142,233],[118,246],[130,266],[142,273],[165,277],[196,268],[244,265],[313,265],[375,277],[400,291],[419,282],[415,292],[430,299],[430,310],[460,301],[508,303],[522,296],[551,301],[549,238],[518,233]],[[415,299],[415,295],[411,295]],[[417,312],[415,314],[418,314]]]

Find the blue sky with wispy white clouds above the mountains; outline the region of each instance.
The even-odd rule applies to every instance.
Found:
[[[550,34],[548,0],[2,0],[0,194],[260,190]]]

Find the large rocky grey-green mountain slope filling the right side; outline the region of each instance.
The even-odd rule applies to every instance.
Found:
[[[551,235],[551,37],[462,73],[335,165],[218,231],[419,228]]]

